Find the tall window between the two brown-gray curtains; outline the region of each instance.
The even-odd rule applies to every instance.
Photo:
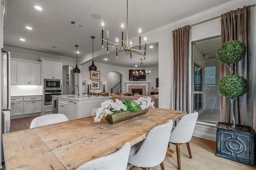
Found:
[[[201,121],[220,121],[220,63],[216,59],[219,46],[220,37],[192,43],[192,106]]]

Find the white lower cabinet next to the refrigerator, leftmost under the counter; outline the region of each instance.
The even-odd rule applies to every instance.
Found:
[[[11,97],[11,116],[23,115],[23,97]]]

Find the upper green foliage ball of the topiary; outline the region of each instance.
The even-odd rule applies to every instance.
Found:
[[[241,41],[232,40],[220,45],[216,57],[220,63],[230,64],[242,60],[246,54],[246,46]]]

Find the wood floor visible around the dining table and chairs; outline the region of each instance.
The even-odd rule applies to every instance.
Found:
[[[11,119],[11,131],[19,131],[28,129],[30,122],[37,116]],[[186,144],[180,146],[180,159],[182,170],[256,170],[256,168],[234,162],[228,159],[215,156],[216,142],[206,139],[192,137],[190,141],[192,159],[189,158]],[[175,145],[171,145],[171,149],[176,150]],[[166,170],[176,170],[177,156],[173,158],[168,156],[164,159]],[[137,167],[132,167],[130,170],[141,170]],[[161,170],[160,165],[150,168],[150,170]]]

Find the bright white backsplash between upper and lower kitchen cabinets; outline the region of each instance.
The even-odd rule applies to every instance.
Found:
[[[43,95],[43,86],[11,85],[11,96]]]

